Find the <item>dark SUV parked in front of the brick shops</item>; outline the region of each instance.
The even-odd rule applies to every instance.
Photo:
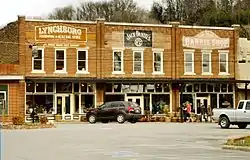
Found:
[[[86,114],[89,123],[96,123],[97,121],[103,123],[110,121],[136,123],[141,117],[141,107],[135,102],[126,101],[106,102],[97,108],[90,109]]]

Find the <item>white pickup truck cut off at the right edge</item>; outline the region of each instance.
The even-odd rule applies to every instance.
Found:
[[[229,128],[230,125],[238,125],[245,129],[250,124],[250,100],[241,100],[237,109],[213,109],[212,119],[218,122],[221,128]]]

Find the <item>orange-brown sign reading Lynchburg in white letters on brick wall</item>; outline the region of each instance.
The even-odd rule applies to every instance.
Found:
[[[36,26],[36,40],[64,39],[87,41],[87,29],[68,25]]]

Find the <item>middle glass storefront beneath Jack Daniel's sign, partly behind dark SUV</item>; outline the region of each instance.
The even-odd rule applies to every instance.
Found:
[[[142,114],[172,111],[169,83],[107,83],[105,101],[132,101],[142,107]]]

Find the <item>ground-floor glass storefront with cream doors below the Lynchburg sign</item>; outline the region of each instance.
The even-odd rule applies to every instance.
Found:
[[[81,81],[26,82],[27,120],[35,105],[36,112],[54,120],[79,120],[89,108],[96,107],[96,85]]]

